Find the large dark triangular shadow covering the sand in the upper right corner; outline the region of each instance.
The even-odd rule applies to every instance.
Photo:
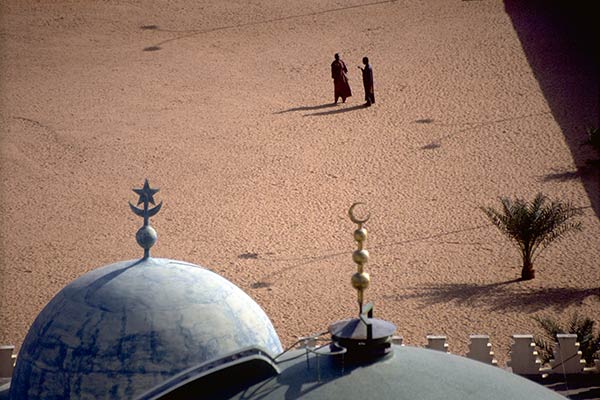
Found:
[[[582,173],[596,155],[581,144],[586,128],[600,124],[600,77],[597,13],[593,2],[504,0],[529,65],[559,124],[578,174],[548,180],[581,179],[596,215],[600,216],[599,174]]]

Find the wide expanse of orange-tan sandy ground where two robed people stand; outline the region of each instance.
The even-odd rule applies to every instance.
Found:
[[[356,313],[355,201],[372,214],[366,299],[408,344],[446,334],[465,354],[485,333],[504,363],[533,316],[598,321],[598,176],[580,146],[597,75],[513,3],[2,0],[0,343],[73,279],[142,255],[127,202],[144,178],[164,201],[153,256],[232,280],[286,345]],[[335,52],[354,92],[338,106]],[[583,230],[518,282],[479,207],[540,191],[582,207]]]

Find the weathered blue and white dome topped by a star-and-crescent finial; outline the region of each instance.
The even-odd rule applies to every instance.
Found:
[[[120,262],[76,279],[42,310],[10,396],[131,398],[249,346],[282,351],[267,315],[233,283],[180,261]]]

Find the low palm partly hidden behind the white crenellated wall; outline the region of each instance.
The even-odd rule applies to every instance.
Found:
[[[552,318],[533,317],[544,333],[535,337],[535,344],[540,349],[539,355],[544,363],[554,358],[554,343],[556,335],[559,333],[572,333],[577,335],[579,342],[579,350],[582,358],[588,365],[593,364],[594,358],[600,356],[600,333],[594,336],[595,321],[590,318],[581,318],[576,312],[573,313],[571,319],[563,328],[556,320]]]

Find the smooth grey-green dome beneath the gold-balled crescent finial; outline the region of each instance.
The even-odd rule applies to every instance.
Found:
[[[392,345],[371,361],[348,362],[327,348],[294,350],[277,360],[249,354],[228,368],[177,377],[143,399],[220,400],[564,400],[498,367],[441,351]],[[318,354],[318,355],[317,355]],[[270,368],[269,368],[270,367]],[[231,376],[249,377],[237,382]],[[185,380],[184,380],[185,379]],[[238,378],[238,380],[241,380]],[[183,382],[183,384],[182,384]]]

